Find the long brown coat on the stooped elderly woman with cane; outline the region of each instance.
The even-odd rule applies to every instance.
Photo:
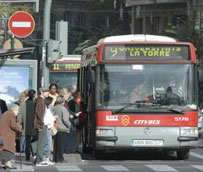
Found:
[[[0,117],[0,135],[3,139],[3,149],[15,153],[16,131],[21,132],[21,126],[16,122],[13,111],[7,111]]]

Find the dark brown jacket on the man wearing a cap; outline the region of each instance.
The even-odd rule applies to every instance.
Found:
[[[44,126],[44,114],[45,114],[45,102],[42,97],[38,97],[35,100],[35,119],[34,127],[36,129],[43,129]]]

